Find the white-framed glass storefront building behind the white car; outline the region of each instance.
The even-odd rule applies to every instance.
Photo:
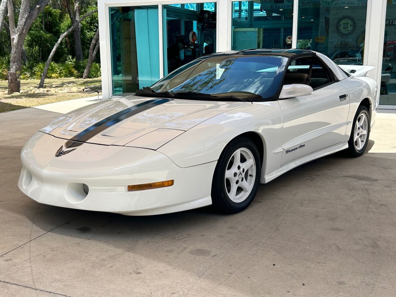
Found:
[[[98,9],[104,98],[210,53],[301,48],[375,66],[379,108],[396,109],[396,0],[99,0]]]

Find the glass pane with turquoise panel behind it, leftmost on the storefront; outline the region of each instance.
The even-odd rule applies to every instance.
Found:
[[[133,93],[160,79],[158,6],[111,7],[112,94]]]

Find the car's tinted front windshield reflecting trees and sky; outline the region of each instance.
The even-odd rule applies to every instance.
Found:
[[[200,58],[171,72],[151,89],[155,92],[215,95],[219,99],[230,95],[244,99],[255,96],[255,101],[259,101],[275,95],[286,63],[286,57],[270,55]]]

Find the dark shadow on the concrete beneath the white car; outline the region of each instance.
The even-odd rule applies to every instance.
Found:
[[[373,141],[369,142],[370,145],[373,145]],[[209,230],[214,227],[221,230],[222,225],[227,226],[232,221],[243,221],[242,218],[247,219],[249,216],[263,218],[267,215],[267,223],[271,225],[272,222],[269,220],[271,217],[274,219],[274,213],[282,213],[284,204],[289,203],[289,199],[294,194],[294,185],[303,185],[308,188],[316,180],[325,179],[323,175],[326,176],[326,179],[328,179],[327,176],[352,177],[348,170],[361,164],[362,160],[365,160],[364,158],[368,160],[372,157],[346,158],[344,152],[338,152],[303,164],[268,184],[260,185],[251,206],[235,215],[219,214],[208,206],[163,215],[126,216],[43,205],[30,200],[21,192],[19,192],[21,196],[19,203],[23,204],[23,207],[12,208],[12,211],[17,211],[20,215],[27,217],[32,224],[45,232],[74,238],[112,240],[114,242],[162,236],[183,237],[183,234],[190,234],[191,230],[199,232],[200,228]],[[371,162],[367,160],[364,163]],[[376,162],[379,162],[378,160],[379,158],[376,158]],[[369,178],[370,173],[366,175]],[[366,178],[365,175],[362,175],[362,178]],[[276,201],[275,204],[274,201]],[[274,224],[277,219],[275,218]],[[227,233],[227,230],[225,231]]]

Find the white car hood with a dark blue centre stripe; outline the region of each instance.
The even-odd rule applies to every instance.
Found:
[[[74,110],[41,131],[79,143],[157,149],[201,122],[250,102],[128,96]]]

